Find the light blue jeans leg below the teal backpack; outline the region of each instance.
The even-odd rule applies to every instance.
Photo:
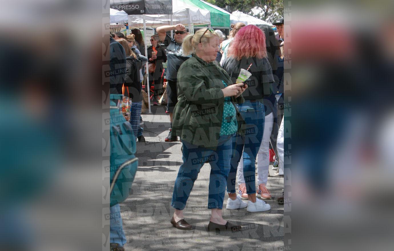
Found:
[[[117,243],[121,247],[126,244],[119,204],[110,207],[110,243]]]

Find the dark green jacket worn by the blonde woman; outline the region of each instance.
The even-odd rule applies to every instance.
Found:
[[[214,62],[193,55],[180,66],[177,75],[178,103],[173,112],[172,135],[193,145],[216,149],[223,118],[221,89],[232,85],[229,74]],[[244,99],[231,97],[233,103]],[[238,132],[244,123],[236,108]],[[242,133],[241,133],[242,134]]]

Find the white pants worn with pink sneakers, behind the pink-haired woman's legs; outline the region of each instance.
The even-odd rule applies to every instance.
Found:
[[[257,186],[260,184],[267,184],[268,169],[269,169],[269,137],[273,127],[274,114],[270,113],[266,115],[264,120],[264,133],[263,140],[261,141],[260,148],[257,153]],[[243,155],[243,154],[242,154]],[[243,156],[238,164],[237,178],[238,185],[245,183],[243,178]]]

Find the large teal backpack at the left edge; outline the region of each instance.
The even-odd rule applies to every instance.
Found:
[[[127,122],[117,107],[121,94],[110,94],[110,205],[127,199],[137,172],[136,139],[130,122]]]

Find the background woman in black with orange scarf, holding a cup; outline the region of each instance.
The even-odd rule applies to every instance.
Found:
[[[167,62],[167,54],[165,48],[161,46],[159,35],[155,34],[151,37],[152,46],[148,47],[148,60],[149,63],[153,64],[154,72],[149,73],[149,86],[152,86],[154,81],[154,92],[152,97],[153,105],[158,105],[158,96],[163,94],[163,63]]]

